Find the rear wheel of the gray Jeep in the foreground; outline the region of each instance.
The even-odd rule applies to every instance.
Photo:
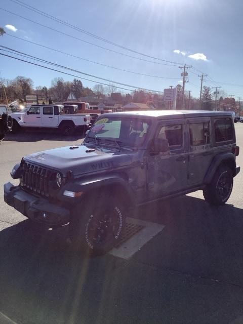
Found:
[[[224,205],[233,188],[233,175],[229,167],[220,167],[210,184],[204,189],[204,198],[211,205]]]

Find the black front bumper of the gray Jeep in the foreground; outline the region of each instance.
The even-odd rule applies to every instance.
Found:
[[[24,216],[50,227],[64,225],[70,219],[69,210],[35,197],[10,182],[4,185],[4,201]]]

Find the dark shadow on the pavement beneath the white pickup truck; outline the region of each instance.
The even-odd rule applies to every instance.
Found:
[[[14,142],[38,142],[38,141],[77,141],[79,139],[83,139],[85,137],[85,132],[76,131],[71,136],[63,136],[55,131],[21,131],[17,134],[6,134],[4,141],[14,141]]]

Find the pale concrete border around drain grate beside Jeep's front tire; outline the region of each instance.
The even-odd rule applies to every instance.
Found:
[[[165,228],[165,225],[163,224],[142,221],[140,219],[130,217],[127,217],[126,223],[137,225],[137,227],[139,226],[139,231],[137,231],[132,237],[128,238],[128,240],[121,244],[121,246],[114,248],[109,252],[109,254],[113,255],[114,257],[119,257],[126,260],[131,258],[150,239]]]

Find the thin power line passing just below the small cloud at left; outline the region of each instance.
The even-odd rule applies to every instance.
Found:
[[[61,53],[61,54],[65,54],[65,55],[68,55],[68,56],[71,56],[71,57],[80,59],[80,60],[84,60],[84,61],[87,61],[87,62],[90,62],[90,63],[102,65],[102,66],[109,67],[109,68],[112,68],[112,69],[116,69],[116,70],[119,70],[119,71],[124,71],[124,72],[128,72],[128,73],[134,73],[134,74],[143,75],[143,76],[149,76],[149,77],[156,77],[156,78],[161,78],[161,79],[175,79],[175,80],[178,80],[178,77],[164,77],[164,76],[150,75],[150,74],[139,73],[139,72],[130,71],[130,70],[126,70],[126,69],[121,69],[121,68],[118,68],[118,67],[115,67],[115,66],[102,64],[102,63],[99,63],[99,62],[95,62],[95,61],[91,61],[91,60],[85,59],[85,58],[80,57],[80,56],[76,56],[76,55],[72,55],[72,54],[69,54],[69,53],[66,53],[66,52],[62,52],[62,51],[59,51],[59,50],[53,49],[51,47],[48,47],[48,46],[45,46],[45,45],[41,45],[41,44],[35,43],[35,42],[27,41],[27,39],[24,39],[24,38],[21,38],[21,37],[17,37],[17,36],[14,36],[14,35],[10,35],[9,33],[6,33],[6,35],[11,36],[11,37],[14,37],[14,38],[17,38],[17,39],[21,39],[24,42],[27,42],[27,43],[30,43],[30,44],[34,44],[34,45],[37,45],[39,47],[46,48],[46,49],[51,50],[51,51],[55,51],[55,52],[58,52],[58,53]],[[170,64],[167,64],[167,65],[170,65]]]

